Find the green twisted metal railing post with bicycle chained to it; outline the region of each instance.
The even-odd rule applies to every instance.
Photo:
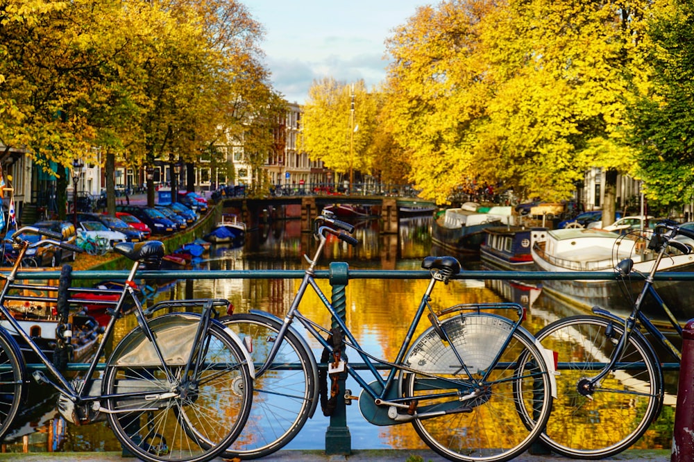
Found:
[[[332,307],[337,314],[346,319],[347,296],[346,288],[349,281],[349,266],[344,262],[333,262],[330,264],[330,286],[332,286]],[[332,327],[337,327],[337,322],[332,320]],[[325,431],[325,454],[352,453],[352,436],[347,427],[347,409],[345,405],[345,382],[347,379],[346,371],[339,376],[339,390],[337,392],[337,404],[330,416],[330,426]]]

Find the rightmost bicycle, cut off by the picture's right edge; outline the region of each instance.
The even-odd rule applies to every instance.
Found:
[[[538,341],[559,354],[557,397],[541,435],[553,451],[579,459],[613,456],[636,443],[659,416],[665,390],[653,344],[677,362],[682,354],[643,313],[642,305],[651,296],[682,336],[677,318],[653,285],[669,248],[691,253],[689,246],[675,239],[679,234],[694,239],[694,232],[677,223],[657,225],[648,243],[656,258],[627,317],[593,307],[592,315],[562,318],[537,332]],[[627,290],[633,266],[632,259],[624,259],[615,268]]]

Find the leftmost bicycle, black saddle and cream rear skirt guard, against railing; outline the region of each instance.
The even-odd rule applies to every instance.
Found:
[[[32,244],[20,237],[22,232],[44,237]],[[22,261],[28,248],[44,243],[81,251],[59,239],[60,233],[26,226],[15,232],[11,242],[19,249],[17,262]],[[248,391],[253,386],[254,371],[250,356],[235,334],[216,319],[217,309],[226,308],[228,301],[174,300],[144,311],[135,296],[133,280],[140,266],[159,267],[164,245],[160,241],[118,243],[114,250],[133,260],[126,282],[118,289],[73,288],[71,266],[63,266],[60,272],[57,297],[52,299],[62,317],[56,329],[59,344],[71,345],[69,307],[84,302],[75,297],[78,293],[115,296],[103,302],[110,305],[111,318],[94,357],[86,372],[74,379],[67,378],[63,367],[46,357],[6,307],[6,300],[17,300],[17,289],[36,289],[36,284],[15,281],[17,262],[8,275],[2,275],[5,283],[0,291],[4,321],[0,327],[0,437],[10,429],[26,399],[28,381],[33,379],[60,393],[58,408],[67,420],[84,425],[107,419],[124,449],[139,459],[208,461],[235,440],[251,407]],[[134,305],[137,327],[115,345],[100,367],[101,355],[109,345],[117,320],[124,314],[128,298],[128,306]],[[162,308],[190,311],[194,307],[202,307],[201,313],[171,312],[148,319]],[[46,373],[42,368],[28,370],[13,335],[31,348]]]

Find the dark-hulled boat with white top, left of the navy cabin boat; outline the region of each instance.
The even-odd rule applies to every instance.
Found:
[[[477,203],[446,209],[432,222],[432,243],[454,253],[479,253],[484,230],[491,226],[513,224],[511,207],[489,207],[479,212]]]

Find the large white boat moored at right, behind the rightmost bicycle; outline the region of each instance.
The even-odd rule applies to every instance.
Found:
[[[644,234],[648,235],[648,232]],[[536,228],[531,232],[531,241],[532,259],[538,271],[612,272],[618,262],[631,258],[634,261],[634,270],[645,274],[655,263],[655,255],[648,249],[647,242],[644,239],[634,239],[632,234],[619,235],[603,230],[580,228],[561,230]],[[694,255],[685,255],[676,251],[663,258],[659,265],[659,271],[691,271],[693,268]],[[677,284],[682,282],[659,281],[656,284],[666,302],[670,298],[668,294],[672,294],[670,298],[672,302],[668,303],[668,306],[678,319],[691,318],[691,312],[686,312],[689,304],[683,302],[682,291],[677,290]],[[634,298],[641,291],[641,286],[643,281],[640,278],[625,281],[616,278],[543,281],[543,291],[569,305],[583,311],[590,311],[594,306],[600,306],[618,314],[628,314],[631,311]],[[646,300],[643,309],[649,312],[655,306],[652,300]],[[679,311],[676,312],[678,309]],[[652,314],[656,317],[662,316],[657,312]]]

